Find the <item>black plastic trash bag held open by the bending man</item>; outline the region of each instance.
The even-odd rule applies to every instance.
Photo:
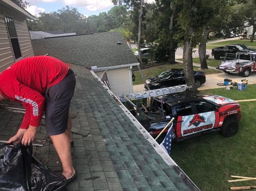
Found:
[[[67,191],[67,187],[32,156],[32,146],[4,144],[0,146],[0,190]]]

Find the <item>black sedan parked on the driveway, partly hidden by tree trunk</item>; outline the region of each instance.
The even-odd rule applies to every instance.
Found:
[[[194,77],[196,88],[205,83],[206,78],[203,71],[194,71]],[[144,83],[144,88],[147,90],[154,90],[181,84],[185,84],[184,69],[171,69],[164,71],[155,77],[147,79]]]

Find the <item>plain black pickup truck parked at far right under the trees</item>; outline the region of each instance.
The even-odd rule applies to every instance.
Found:
[[[250,52],[255,51],[254,49],[250,49],[248,46],[244,44],[229,44],[225,46],[220,46],[212,49],[212,56],[214,59],[220,60],[221,57],[225,58],[236,58],[237,52]]]

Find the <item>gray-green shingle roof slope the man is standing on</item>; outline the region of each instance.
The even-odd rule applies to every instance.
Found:
[[[68,190],[196,190],[179,168],[164,162],[155,150],[157,143],[144,137],[143,129],[88,69],[74,65],[73,71],[77,84],[70,108],[75,143],[72,158],[78,177]],[[22,113],[0,109],[1,139],[15,134],[22,117]],[[44,120],[36,138],[47,138]],[[48,139],[43,147],[34,146],[34,155],[56,173],[61,172]]]

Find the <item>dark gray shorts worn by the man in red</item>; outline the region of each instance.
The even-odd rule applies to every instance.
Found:
[[[76,86],[75,74],[69,69],[63,80],[46,90],[46,132],[49,136],[58,135],[68,128],[68,111]]]

